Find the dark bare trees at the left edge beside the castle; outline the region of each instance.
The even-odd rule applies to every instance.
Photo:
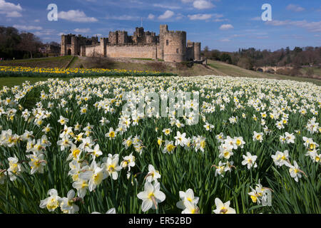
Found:
[[[40,48],[48,44],[58,45],[55,42],[42,43],[34,33],[0,26],[0,58],[3,60],[44,57]]]

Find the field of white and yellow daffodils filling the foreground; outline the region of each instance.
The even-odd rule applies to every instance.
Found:
[[[0,212],[321,213],[320,108],[320,86],[255,78],[4,87]]]

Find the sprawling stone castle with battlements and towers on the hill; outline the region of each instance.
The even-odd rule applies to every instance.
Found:
[[[160,26],[160,34],[136,28],[133,36],[127,31],[111,31],[108,38],[86,38],[81,35],[61,36],[61,56],[108,58],[151,58],[165,62],[200,61],[200,43],[186,42],[185,31],[168,31]]]

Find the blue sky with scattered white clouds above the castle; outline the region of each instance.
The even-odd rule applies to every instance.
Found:
[[[58,21],[48,21],[47,6],[58,6]],[[272,6],[272,21],[262,21],[261,6]],[[137,26],[159,33],[160,24],[187,31],[202,49],[275,51],[321,45],[321,1],[258,0],[0,0],[1,26],[30,31],[42,41],[61,41],[62,33],[108,37],[109,31],[132,34]]]

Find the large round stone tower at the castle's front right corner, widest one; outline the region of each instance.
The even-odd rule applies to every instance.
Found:
[[[164,61],[186,61],[186,32],[168,31],[164,36]]]

